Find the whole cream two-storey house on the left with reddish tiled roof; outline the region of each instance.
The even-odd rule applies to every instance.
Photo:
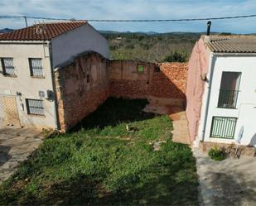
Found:
[[[0,35],[0,125],[58,128],[53,70],[86,50],[109,58],[88,22],[36,24]]]

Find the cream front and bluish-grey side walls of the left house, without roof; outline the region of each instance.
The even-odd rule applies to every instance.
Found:
[[[109,58],[108,41],[88,23],[56,36],[51,41],[0,41],[0,126],[13,124],[58,128],[53,69],[89,50]],[[4,58],[12,58],[15,75],[4,74]],[[30,58],[40,60],[43,77],[31,75]],[[47,91],[52,94],[52,98],[46,97]],[[39,93],[44,93],[45,97]],[[30,99],[40,102],[39,107],[42,103],[43,115],[29,112]]]

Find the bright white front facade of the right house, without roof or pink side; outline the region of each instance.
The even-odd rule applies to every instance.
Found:
[[[202,141],[231,143],[239,137],[241,127],[242,145],[256,145],[256,55],[215,54],[210,55],[208,79],[200,116],[198,138]],[[238,96],[235,108],[220,108],[218,101],[223,72],[239,72]],[[208,95],[209,93],[209,95]],[[209,100],[209,101],[208,101]],[[213,117],[234,117],[236,120],[234,137],[211,137]],[[230,124],[227,124],[228,128]],[[233,127],[233,126],[232,126]],[[225,130],[224,129],[224,130]]]

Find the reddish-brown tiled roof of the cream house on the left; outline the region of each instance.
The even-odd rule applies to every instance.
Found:
[[[86,21],[35,24],[0,35],[0,41],[46,41],[85,25]]]

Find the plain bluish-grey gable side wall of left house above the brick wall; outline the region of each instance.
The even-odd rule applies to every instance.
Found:
[[[109,43],[88,23],[51,40],[53,68],[86,50],[109,59]]]

